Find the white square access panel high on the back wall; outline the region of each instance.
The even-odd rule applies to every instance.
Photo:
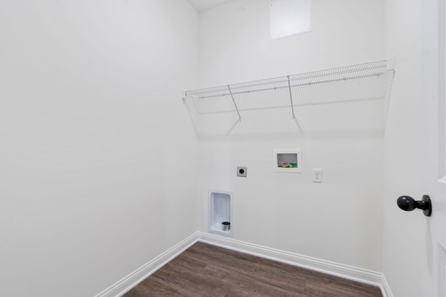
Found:
[[[311,0],[277,0],[270,3],[270,38],[312,31]]]

